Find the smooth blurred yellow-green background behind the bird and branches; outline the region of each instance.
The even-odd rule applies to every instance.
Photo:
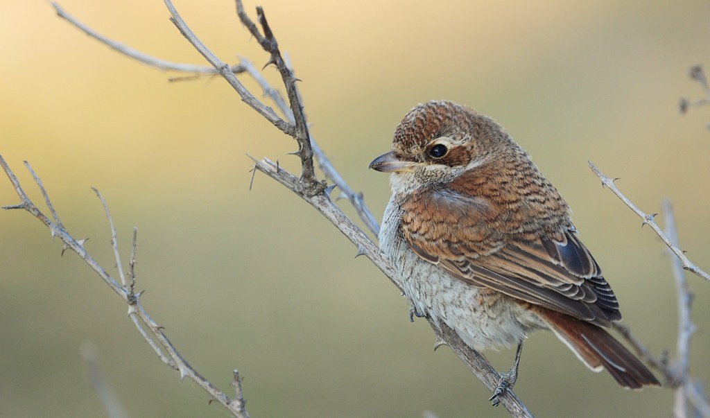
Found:
[[[109,38],[177,62],[204,60],[160,1],[64,0]],[[682,248],[710,268],[710,108],[679,114],[709,61],[706,1],[245,1],[261,5],[297,76],[312,134],[379,218],[388,179],[368,164],[415,104],[452,99],[493,116],[574,208],[624,323],[674,355],[676,296],[664,246],[587,167],[592,160],[643,210],[674,203]],[[177,1],[223,60],[268,59],[234,2]],[[36,202],[42,177],[63,223],[116,273],[101,190],[138,287],[182,354],[230,393],[244,376],[252,417],[506,417],[426,321],[322,216],[246,154],[279,160],[295,143],[222,79],[168,82],[57,18],[45,1],[0,0],[0,153]],[[273,67],[263,74],[278,86]],[[247,86],[256,88],[245,79]],[[278,86],[280,87],[280,86]],[[257,95],[261,92],[255,89]],[[4,176],[2,176],[4,178]],[[18,199],[0,179],[0,204]],[[354,212],[345,202],[347,213]],[[659,216],[660,220],[660,216]],[[92,343],[132,417],[223,417],[165,367],[126,306],[48,229],[0,213],[0,415],[100,417],[80,346]],[[692,375],[710,374],[710,285],[689,277],[699,331]],[[513,350],[488,352],[507,370]],[[668,417],[672,391],[622,390],[550,333],[526,344],[515,391],[541,417]]]

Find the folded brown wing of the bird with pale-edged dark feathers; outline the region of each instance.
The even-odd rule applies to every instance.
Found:
[[[403,209],[410,248],[459,280],[603,326],[621,319],[601,268],[571,229],[555,238],[510,229],[527,222],[520,210],[450,188],[413,194]]]

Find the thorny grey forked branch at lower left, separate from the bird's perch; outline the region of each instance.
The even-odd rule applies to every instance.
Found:
[[[49,195],[47,194],[47,191],[45,190],[40,178],[38,175],[35,174],[34,170],[32,170],[32,167],[25,162],[25,165],[27,166],[28,170],[32,173],[32,176],[35,179],[35,182],[37,183],[38,187],[40,188],[40,191],[42,192],[43,196],[45,197],[45,202],[47,202],[47,206],[52,208],[50,209],[53,212],[53,215],[55,219],[58,219],[58,214],[56,214],[55,210],[53,209],[53,205],[51,204],[51,201],[49,199]],[[146,341],[148,341],[148,344],[153,348],[155,353],[158,354],[158,357],[160,358],[163,363],[166,365],[169,365],[171,368],[174,368],[175,370],[180,371],[180,379],[184,378],[190,378],[190,380],[195,381],[197,385],[202,387],[203,390],[205,390],[209,395],[219,402],[220,404],[224,405],[226,409],[229,410],[232,414],[234,414],[235,417],[239,418],[249,418],[249,414],[246,413],[246,409],[244,409],[244,399],[241,397],[241,392],[237,394],[236,397],[230,398],[229,396],[225,395],[224,392],[221,390],[217,389],[217,387],[214,387],[212,383],[209,382],[209,380],[205,379],[200,375],[200,373],[197,373],[197,370],[193,369],[190,364],[185,361],[185,358],[180,355],[178,352],[177,348],[173,346],[173,343],[170,342],[167,336],[163,334],[163,327],[158,325],[146,312],[145,309],[143,309],[143,305],[141,305],[140,302],[140,297],[141,293],[134,293],[133,288],[135,287],[135,264],[136,264],[136,249],[137,249],[137,244],[136,244],[136,236],[133,236],[133,247],[131,249],[131,260],[129,262],[129,275],[130,275],[130,283],[129,285],[125,284],[125,277],[123,277],[121,280],[124,284],[120,284],[116,280],[114,280],[109,273],[107,273],[107,270],[105,270],[99,263],[94,260],[94,258],[89,255],[89,253],[86,251],[86,248],[84,248],[84,243],[86,242],[86,239],[82,240],[77,240],[74,237],[71,236],[71,234],[64,228],[64,226],[60,225],[58,221],[52,221],[49,219],[45,214],[38,209],[38,207],[32,202],[32,200],[28,197],[28,195],[25,193],[23,188],[20,185],[19,180],[17,179],[16,175],[13,173],[13,171],[10,169],[9,165],[5,162],[4,158],[2,158],[2,155],[0,155],[0,167],[4,170],[6,173],[7,177],[10,179],[10,182],[12,183],[15,192],[17,193],[18,197],[20,198],[20,203],[19,204],[14,204],[14,205],[9,205],[9,206],[4,206],[3,209],[9,210],[9,209],[23,209],[35,216],[35,218],[39,219],[45,226],[47,226],[50,231],[52,232],[52,236],[57,236],[60,238],[60,240],[63,243],[64,249],[71,249],[77,255],[79,255],[82,260],[84,260],[87,265],[89,265],[94,272],[96,272],[104,282],[111,287],[111,290],[116,292],[121,299],[128,304],[129,309],[129,317],[133,321],[133,324],[136,325],[136,328],[138,331],[141,332],[141,335],[143,336]],[[114,221],[111,219],[111,214],[109,213],[108,206],[106,204],[106,201],[102,194],[97,190],[94,189],[94,192],[96,192],[97,196],[101,200],[102,204],[104,205],[104,211],[106,212],[106,216],[109,219],[109,225],[111,226],[111,246],[114,247],[114,257],[116,259],[116,265],[119,267],[119,271],[121,272],[121,275],[123,276],[123,270],[120,268],[121,266],[121,258],[119,256],[119,251],[118,251],[118,243],[116,242],[116,230],[114,229]],[[134,229],[134,234],[136,233],[136,230]],[[62,250],[62,253],[64,251]]]

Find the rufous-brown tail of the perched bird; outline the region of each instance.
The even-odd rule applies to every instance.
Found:
[[[627,389],[660,386],[650,370],[601,326],[544,308],[539,314],[557,338],[591,370],[606,369]]]

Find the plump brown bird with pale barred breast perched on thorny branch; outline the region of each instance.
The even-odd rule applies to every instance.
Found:
[[[476,351],[517,345],[493,392],[513,387],[523,341],[552,331],[587,367],[629,389],[660,386],[606,331],[618,300],[571,209],[496,121],[453,101],[418,104],[370,168],[391,173],[378,234],[412,302]]]

